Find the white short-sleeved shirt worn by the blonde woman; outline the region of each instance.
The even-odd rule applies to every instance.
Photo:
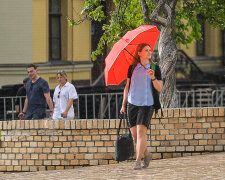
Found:
[[[63,118],[61,114],[66,110],[69,99],[77,99],[77,91],[71,83],[67,82],[61,89],[59,85],[56,86],[53,102],[55,104],[53,119],[73,119],[74,118],[74,108],[73,104],[71,105],[67,118]]]

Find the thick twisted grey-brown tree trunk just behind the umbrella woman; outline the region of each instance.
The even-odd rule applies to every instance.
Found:
[[[146,17],[149,16],[147,14],[148,7],[145,0],[141,0],[145,21],[149,24],[156,25],[160,31],[158,44],[159,66],[164,82],[163,89],[160,93],[160,102],[164,108],[173,108],[178,105],[175,79],[177,47],[173,37],[177,0],[159,0],[157,2],[152,0],[152,2],[156,4],[156,8],[151,14],[151,20],[149,20]]]

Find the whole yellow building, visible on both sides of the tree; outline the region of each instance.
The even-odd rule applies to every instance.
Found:
[[[65,70],[75,86],[95,84],[103,74],[106,53],[92,63],[91,51],[96,49],[102,24],[85,20],[70,27],[67,22],[67,17],[76,22],[84,18],[83,4],[83,0],[1,0],[0,87],[22,83],[30,63],[38,65],[51,89],[57,85],[58,70]],[[110,8],[107,2],[106,9]],[[225,31],[204,23],[202,33],[203,40],[178,49],[203,71],[225,75]]]

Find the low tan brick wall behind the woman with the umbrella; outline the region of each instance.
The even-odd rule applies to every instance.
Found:
[[[164,109],[148,130],[153,158],[225,150],[224,108]],[[160,113],[159,113],[160,114]],[[117,163],[119,120],[0,121],[0,171],[69,169]],[[151,141],[149,141],[151,138]]]

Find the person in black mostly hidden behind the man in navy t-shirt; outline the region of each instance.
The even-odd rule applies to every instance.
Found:
[[[23,86],[20,87],[16,93],[16,101],[15,101],[15,110],[16,110],[16,114],[18,115],[20,112],[20,105],[21,105],[21,109],[23,108],[24,105],[24,101],[25,101],[25,97],[24,98],[20,98],[20,96],[26,96],[26,84],[27,81],[29,80],[28,77],[26,77],[23,80]],[[22,101],[21,101],[21,100]],[[21,102],[20,102],[21,101]],[[22,111],[22,110],[21,110]],[[17,116],[16,116],[17,117]]]

